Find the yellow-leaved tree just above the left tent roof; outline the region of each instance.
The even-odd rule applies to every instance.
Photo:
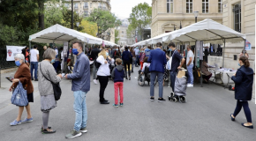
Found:
[[[83,19],[80,26],[83,27],[83,30],[80,32],[82,33],[88,33],[90,35],[93,35],[94,37],[97,34],[97,24],[93,22],[89,22],[86,19]]]

